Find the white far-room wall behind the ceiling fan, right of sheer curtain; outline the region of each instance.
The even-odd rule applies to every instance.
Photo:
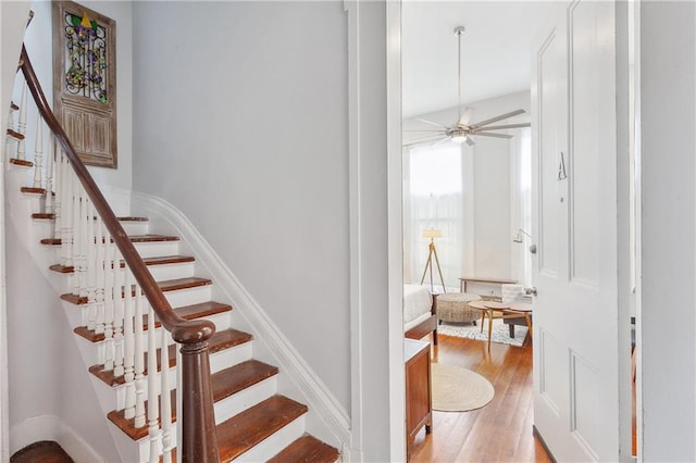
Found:
[[[523,109],[526,114],[506,120],[500,124],[523,123],[530,121],[529,91],[506,95],[488,100],[467,102],[475,112],[471,122],[484,121],[499,114]],[[451,125],[458,118],[456,108],[418,116],[426,121]],[[417,117],[403,121],[403,141],[413,143],[427,135],[418,132],[423,128],[435,128],[419,122]],[[513,180],[513,168],[519,166],[514,157],[520,155],[515,149],[519,143],[519,130],[509,130],[518,135],[510,140],[489,137],[475,137],[475,146],[463,145],[464,163],[464,262],[462,275],[489,278],[523,279],[522,268],[517,260],[522,258],[519,245],[512,242],[512,236],[522,227],[515,220],[520,201],[518,185]],[[513,261],[514,259],[514,261]],[[472,285],[473,287],[473,285]],[[484,288],[486,289],[486,288]]]

